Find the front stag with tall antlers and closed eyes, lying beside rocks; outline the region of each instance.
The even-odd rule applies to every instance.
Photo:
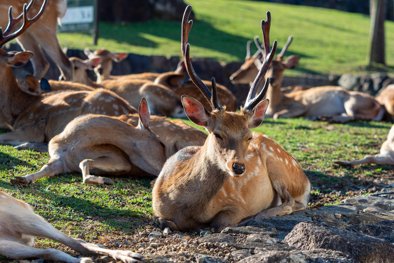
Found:
[[[215,82],[210,91],[195,74],[188,44],[190,12],[191,6],[187,6],[181,50],[190,78],[210,101],[212,110],[186,95],[182,103],[189,120],[203,126],[208,137],[203,146],[185,147],[164,164],[152,190],[154,221],[161,229],[219,229],[305,209],[310,182],[300,165],[277,143],[250,130],[262,123],[269,104],[263,100],[268,78],[256,94],[277,47],[274,41],[270,50],[270,12],[261,23],[265,59],[241,112],[226,111]]]

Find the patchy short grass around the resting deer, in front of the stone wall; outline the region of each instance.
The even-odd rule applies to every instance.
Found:
[[[255,130],[279,143],[299,161],[309,178],[318,178],[323,184],[341,183],[343,179],[356,176],[378,178],[392,170],[387,165],[351,169],[332,166],[333,160],[378,153],[390,126],[389,123],[362,121],[327,125],[303,119],[267,119]],[[88,232],[86,240],[106,236],[109,231],[132,233],[151,221],[149,183],[152,178],[115,177],[112,178],[114,185],[102,187],[85,185],[81,174],[71,173],[42,178],[32,185],[10,184],[10,179],[38,171],[48,160],[45,153],[17,151],[11,146],[0,145],[0,190],[29,203],[54,227],[71,236]],[[319,196],[329,191],[322,192],[317,190],[311,194]],[[95,231],[89,231],[92,227]]]

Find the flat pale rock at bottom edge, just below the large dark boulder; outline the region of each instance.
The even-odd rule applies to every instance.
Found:
[[[338,251],[260,251],[260,253],[238,261],[239,263],[354,263],[349,256]]]

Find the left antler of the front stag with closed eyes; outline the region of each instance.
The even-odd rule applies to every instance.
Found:
[[[190,44],[188,42],[189,32],[191,26],[193,25],[193,21],[189,21],[189,15],[191,12],[191,6],[187,6],[185,9],[185,13],[183,14],[182,19],[182,40],[181,40],[181,50],[183,61],[185,62],[187,72],[189,73],[190,79],[193,81],[194,85],[196,85],[200,91],[203,93],[205,98],[209,101],[212,109],[222,110],[223,107],[220,105],[218,99],[218,92],[216,92],[216,82],[215,78],[212,78],[212,93],[208,89],[208,87],[201,81],[201,79],[194,72],[194,68],[191,65],[190,61]]]

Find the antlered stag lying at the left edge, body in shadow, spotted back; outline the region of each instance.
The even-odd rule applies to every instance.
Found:
[[[24,6],[23,25],[13,33],[0,34],[0,47],[21,35],[31,24],[38,20],[43,8],[31,19],[27,17]],[[11,15],[11,14],[9,14]],[[10,18],[9,30],[12,30]],[[1,32],[1,31],[0,31]],[[29,89],[18,85],[13,67],[26,64],[33,53],[31,51],[6,52],[0,48],[0,124],[12,127],[12,132],[0,136],[0,144],[31,147],[36,151],[48,151],[49,140],[60,134],[66,124],[75,117],[95,113],[120,116],[135,114],[137,110],[115,93],[97,89],[94,91],[60,91],[42,93],[36,85],[28,84]],[[26,76],[30,83],[35,78]]]

